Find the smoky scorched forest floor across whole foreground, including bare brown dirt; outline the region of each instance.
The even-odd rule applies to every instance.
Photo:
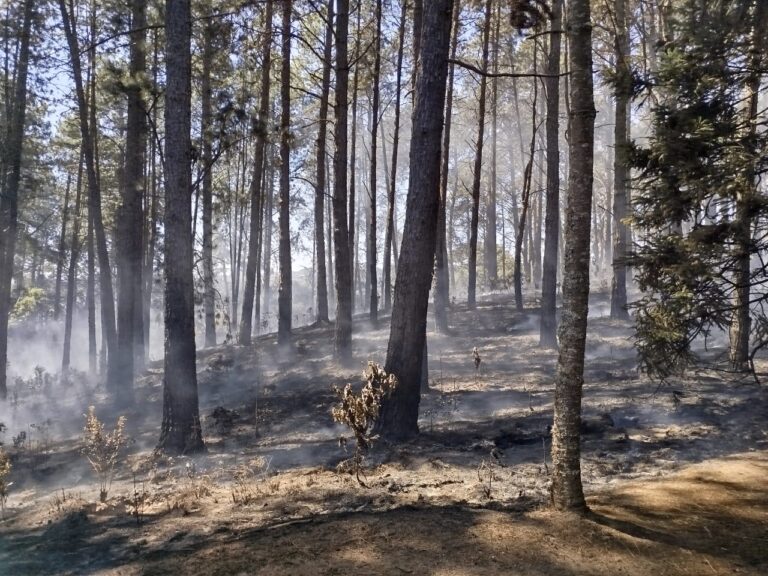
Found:
[[[133,439],[105,503],[79,452],[102,391],[36,392],[2,419],[14,470],[0,520],[0,574],[704,575],[768,573],[768,392],[707,368],[659,386],[639,375],[631,325],[590,313],[583,478],[591,513],[548,509],[554,352],[533,310],[506,295],[453,333],[430,332],[422,434],[379,443],[361,485],[330,407],[333,384],[383,362],[386,322],[356,324],[356,368],[332,357],[332,329],[199,354],[207,454],[152,454],[161,366],[127,412]],[[472,350],[482,362],[475,370]],[[768,372],[768,359],[756,363]],[[19,431],[24,445],[9,447]]]

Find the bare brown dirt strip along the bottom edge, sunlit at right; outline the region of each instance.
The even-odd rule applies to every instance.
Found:
[[[100,574],[434,576],[768,573],[768,453],[690,466],[551,511],[407,507],[224,533]]]

